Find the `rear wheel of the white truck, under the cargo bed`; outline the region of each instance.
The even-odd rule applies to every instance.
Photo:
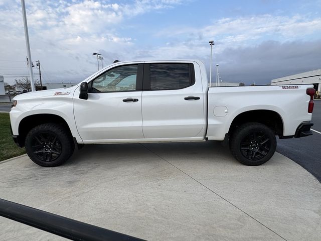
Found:
[[[238,127],[230,139],[232,155],[242,164],[258,166],[267,162],[276,149],[273,131],[260,123],[246,123]]]

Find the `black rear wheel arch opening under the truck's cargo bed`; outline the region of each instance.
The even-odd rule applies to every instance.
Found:
[[[266,125],[280,138],[283,137],[284,124],[281,115],[274,110],[268,109],[248,110],[239,113],[233,119],[228,133],[233,133],[238,126],[248,122],[257,122]]]

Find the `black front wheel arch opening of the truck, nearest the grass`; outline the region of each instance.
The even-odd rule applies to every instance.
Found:
[[[68,134],[71,137],[73,137],[70,127],[67,121],[63,117],[57,114],[49,114],[49,113],[32,114],[24,117],[19,123],[19,128],[18,128],[19,146],[20,147],[25,146],[26,136],[31,129],[45,123],[54,123],[54,124],[62,125],[66,128],[66,130],[68,130]]]

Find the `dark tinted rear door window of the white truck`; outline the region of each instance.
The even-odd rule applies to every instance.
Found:
[[[191,85],[189,64],[150,64],[150,89],[182,89]]]

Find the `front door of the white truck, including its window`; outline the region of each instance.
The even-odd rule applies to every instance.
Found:
[[[74,94],[77,130],[84,141],[140,139],[143,64],[116,66],[88,83],[88,99]]]

